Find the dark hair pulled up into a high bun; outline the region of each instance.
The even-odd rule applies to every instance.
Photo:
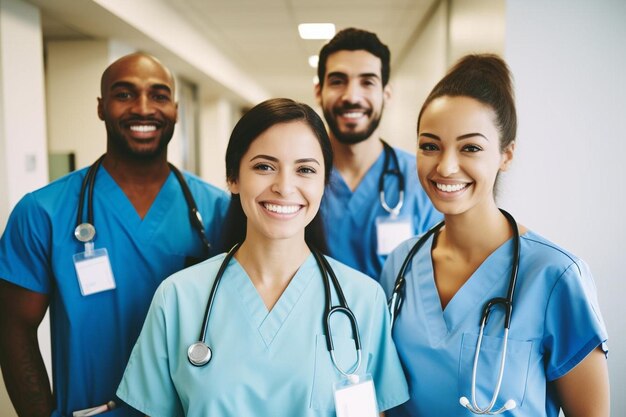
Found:
[[[470,97],[491,107],[496,114],[501,152],[515,141],[517,113],[513,80],[509,67],[499,56],[479,54],[461,58],[426,98],[417,119],[418,132],[424,110],[442,96]]]

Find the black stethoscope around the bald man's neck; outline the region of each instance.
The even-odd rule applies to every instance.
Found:
[[[94,223],[93,216],[93,190],[96,183],[96,173],[102,165],[102,160],[104,159],[104,155],[96,160],[87,171],[85,178],[83,178],[82,185],[80,187],[80,194],[78,197],[78,214],[76,215],[76,228],[74,229],[74,236],[80,242],[85,243],[87,247],[89,244],[92,244],[93,238],[96,236],[96,227]],[[208,257],[209,251],[211,249],[211,244],[206,237],[204,232],[204,225],[202,223],[202,216],[198,211],[198,207],[196,206],[196,202],[191,195],[191,191],[189,190],[189,186],[187,182],[183,178],[183,175],[180,171],[172,164],[168,163],[170,169],[176,176],[178,183],[180,184],[180,188],[183,190],[183,194],[185,195],[185,201],[187,202],[187,207],[189,207],[189,219],[191,221],[191,225],[200,236],[204,246],[205,257]],[[83,207],[85,202],[85,193],[87,193],[87,221],[83,221]],[[93,245],[92,245],[93,246]]]

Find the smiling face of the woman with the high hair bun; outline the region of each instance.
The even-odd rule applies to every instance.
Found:
[[[463,96],[433,100],[422,113],[417,166],[422,187],[444,215],[495,206],[496,176],[510,165],[514,144],[500,151],[495,113]]]

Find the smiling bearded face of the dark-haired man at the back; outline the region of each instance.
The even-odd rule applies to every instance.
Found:
[[[383,87],[378,57],[364,50],[338,51],[328,56],[315,94],[332,136],[351,144],[376,131],[390,89]]]

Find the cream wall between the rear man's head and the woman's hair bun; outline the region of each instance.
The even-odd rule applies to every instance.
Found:
[[[381,136],[412,153],[422,103],[448,67],[468,53],[504,53],[504,0],[442,0],[431,12],[409,51],[391,51],[392,98],[381,122]]]

